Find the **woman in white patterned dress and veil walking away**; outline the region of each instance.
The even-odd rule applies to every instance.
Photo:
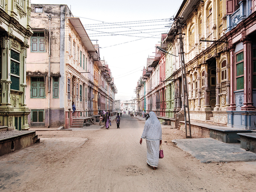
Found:
[[[144,130],[140,138],[140,145],[142,139],[146,139],[147,143],[147,164],[157,169],[159,161],[159,146],[162,143],[162,128],[156,114],[151,111],[149,118],[145,122]]]

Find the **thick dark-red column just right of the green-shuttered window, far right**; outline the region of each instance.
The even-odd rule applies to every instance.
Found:
[[[241,111],[254,111],[253,106],[253,64],[252,41],[245,36],[241,39],[244,45],[244,105]]]

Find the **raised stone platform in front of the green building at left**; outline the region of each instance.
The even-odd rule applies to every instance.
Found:
[[[39,142],[35,131],[1,131],[0,156]]]

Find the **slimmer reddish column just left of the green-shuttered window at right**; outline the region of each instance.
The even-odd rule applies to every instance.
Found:
[[[235,80],[236,80],[236,74],[235,74],[235,67],[236,67],[236,61],[235,61],[235,45],[232,44],[232,40],[229,41],[229,47],[230,49],[230,106],[227,108],[227,111],[236,111],[236,101],[235,101]]]

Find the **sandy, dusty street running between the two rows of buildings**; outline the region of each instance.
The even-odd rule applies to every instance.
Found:
[[[38,131],[41,143],[0,157],[0,191],[255,192],[255,163],[200,163],[171,142],[185,138],[177,129],[163,128],[153,170],[139,144],[144,123],[123,115],[120,129]]]

